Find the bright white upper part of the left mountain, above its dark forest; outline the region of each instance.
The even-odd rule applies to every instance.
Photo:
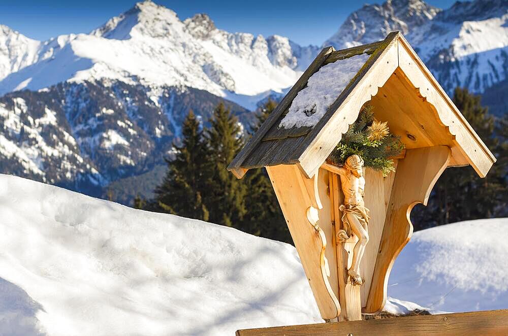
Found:
[[[293,52],[287,38],[230,33],[206,14],[181,21],[172,10],[145,1],[90,34],[49,40],[42,51],[44,57],[0,82],[0,94],[108,78],[189,86],[242,104],[244,95],[261,100],[291,86],[301,74],[299,59],[308,62],[317,47]]]

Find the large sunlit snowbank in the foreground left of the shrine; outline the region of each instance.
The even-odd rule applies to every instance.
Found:
[[[322,321],[288,244],[7,175],[0,218],[0,334],[232,335]]]

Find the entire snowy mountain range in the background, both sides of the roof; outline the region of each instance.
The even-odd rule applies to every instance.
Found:
[[[502,114],[507,11],[508,0],[446,10],[388,0],[352,13],[324,45],[341,49],[400,30],[449,93],[468,87]],[[226,99],[248,127],[248,111],[279,99],[319,50],[277,35],[227,32],[206,14],[180,20],[151,1],[88,34],[44,42],[0,25],[0,172],[91,195],[112,188],[122,194],[115,200],[129,203],[164,174],[189,109],[206,122]]]

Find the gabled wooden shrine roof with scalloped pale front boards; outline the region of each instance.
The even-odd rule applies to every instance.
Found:
[[[306,87],[307,81],[314,73],[326,64],[340,62],[360,54],[367,54],[369,58],[317,124],[279,127],[293,99]],[[397,79],[392,80],[393,77]],[[453,165],[471,164],[480,176],[487,174],[495,162],[494,156],[398,31],[391,32],[383,41],[371,44],[338,51],[333,47],[324,48],[234,158],[228,170],[241,178],[251,168],[298,164],[307,177],[313,176],[340,141],[348,126],[356,120],[361,106],[375,96],[378,89],[382,89],[389,79],[404,82],[408,87],[406,96],[401,97],[399,103],[402,103],[400,100],[410,96],[411,99],[420,99],[420,104],[428,102],[432,106],[427,107],[426,112],[434,114],[432,118],[412,125],[415,132],[419,132],[424,140],[426,137],[427,141],[410,143],[412,148],[448,145],[454,155]],[[383,95],[387,97],[385,93]],[[392,102],[393,112],[400,112],[401,108],[397,109],[396,105],[399,104]],[[434,113],[428,112],[431,110]],[[417,115],[421,111],[410,112]],[[393,118],[393,114],[391,117]],[[391,122],[389,125],[393,129]],[[401,132],[402,128],[406,128],[403,126],[405,125],[398,127]],[[434,126],[436,130],[429,131]]]

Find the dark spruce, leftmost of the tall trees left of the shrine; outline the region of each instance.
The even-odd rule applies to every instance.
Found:
[[[162,184],[155,188],[153,206],[158,212],[206,221],[209,213],[203,192],[211,166],[203,131],[192,110],[183,122],[181,146],[174,147],[175,158],[166,160],[168,172]]]

